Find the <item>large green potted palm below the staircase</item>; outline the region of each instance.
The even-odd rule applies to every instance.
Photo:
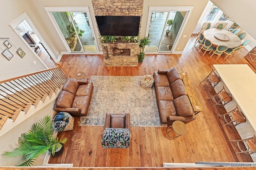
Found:
[[[3,153],[8,158],[22,158],[18,166],[32,166],[34,160],[41,154],[49,152],[54,155],[66,143],[66,138],[58,139],[53,135],[51,117],[46,115],[39,122],[32,125],[28,133],[22,133],[18,138],[18,145],[12,151]]]

